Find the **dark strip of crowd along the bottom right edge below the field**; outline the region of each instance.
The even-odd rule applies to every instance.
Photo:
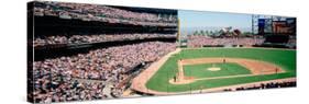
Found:
[[[268,82],[268,83],[261,83],[252,86],[225,89],[224,91],[258,90],[258,89],[274,89],[274,88],[290,88],[290,86],[296,86],[296,81]]]

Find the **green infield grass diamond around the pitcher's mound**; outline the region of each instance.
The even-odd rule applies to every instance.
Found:
[[[218,67],[221,70],[210,71],[207,70],[211,67]],[[238,76],[238,74],[250,74],[251,71],[238,63],[227,62],[227,63],[200,63],[200,65],[187,65],[184,66],[184,73],[186,77],[199,78],[213,78],[213,77],[224,77],[224,76]]]

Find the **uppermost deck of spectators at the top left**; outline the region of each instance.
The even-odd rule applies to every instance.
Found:
[[[132,12],[113,7],[86,3],[37,1],[35,2],[34,15],[132,25],[177,26],[177,15]]]

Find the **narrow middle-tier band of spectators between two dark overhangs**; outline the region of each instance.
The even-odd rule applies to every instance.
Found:
[[[74,45],[74,44],[89,44],[101,42],[114,42],[114,41],[133,41],[145,39],[156,37],[176,37],[176,34],[93,34],[93,35],[71,35],[71,36],[47,36],[34,38],[33,45],[47,46],[47,45]]]

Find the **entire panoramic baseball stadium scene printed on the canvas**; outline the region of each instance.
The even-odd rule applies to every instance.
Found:
[[[27,101],[293,88],[296,18],[27,3]]]

